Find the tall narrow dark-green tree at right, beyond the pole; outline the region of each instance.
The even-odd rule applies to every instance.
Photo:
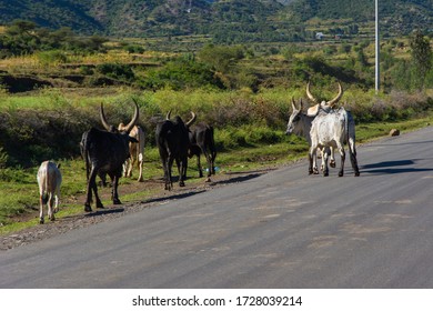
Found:
[[[420,90],[424,88],[425,78],[430,70],[432,70],[433,52],[430,47],[430,40],[424,37],[421,31],[416,31],[410,39],[412,63],[415,69],[416,84]]]

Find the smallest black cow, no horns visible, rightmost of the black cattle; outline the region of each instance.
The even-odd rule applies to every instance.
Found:
[[[208,181],[210,181],[211,174],[215,174],[215,158],[216,149],[213,139],[213,127],[200,122],[190,132],[190,149],[188,157],[191,159],[197,156],[197,165],[199,168],[200,177],[203,177],[203,170],[200,163],[200,156],[204,154],[208,162]]]

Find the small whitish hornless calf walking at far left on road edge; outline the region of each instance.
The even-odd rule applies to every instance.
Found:
[[[43,223],[43,205],[48,205],[48,218],[54,220],[54,213],[59,210],[60,199],[60,184],[62,182],[62,174],[59,170],[60,164],[54,162],[44,161],[38,171],[38,184],[39,184],[39,223]],[[54,209],[52,204],[54,202]]]

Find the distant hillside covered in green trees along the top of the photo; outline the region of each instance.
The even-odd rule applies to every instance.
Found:
[[[382,27],[392,34],[429,29],[431,0],[381,0]],[[293,40],[300,21],[374,20],[374,1],[359,0],[0,0],[0,23],[32,20],[82,34],[155,37],[210,34],[234,41]],[[229,40],[230,41],[230,40]]]

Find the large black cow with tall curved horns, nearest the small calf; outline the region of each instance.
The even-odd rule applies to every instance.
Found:
[[[129,136],[139,119],[139,107],[135,104],[135,112],[131,122],[124,131],[119,132],[113,126],[107,122],[101,103],[101,121],[107,131],[91,128],[84,132],[81,139],[81,152],[85,160],[85,171],[88,178],[87,200],[84,211],[91,212],[92,191],[97,198],[97,209],[103,209],[102,202],[98,195],[95,178],[97,174],[108,174],[112,181],[111,198],[113,204],[121,204],[118,195],[119,178],[122,175],[122,165],[130,157],[129,143],[138,142],[137,139]]]

